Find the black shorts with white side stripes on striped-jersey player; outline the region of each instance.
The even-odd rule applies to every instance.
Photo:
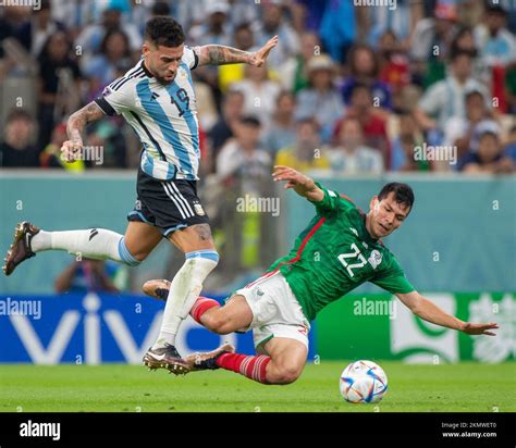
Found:
[[[127,221],[156,226],[163,237],[195,224],[209,224],[197,197],[197,181],[159,181],[138,170],[137,199]]]

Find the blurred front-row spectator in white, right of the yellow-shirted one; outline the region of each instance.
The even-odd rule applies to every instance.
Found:
[[[380,151],[364,145],[360,122],[347,119],[340,126],[337,146],[328,151],[332,174],[381,174],[383,158]]]

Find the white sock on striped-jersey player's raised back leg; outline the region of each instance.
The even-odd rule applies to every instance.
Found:
[[[124,236],[105,228],[88,231],[40,231],[30,240],[34,252],[66,250],[69,253],[94,260],[111,259],[130,265],[139,264],[125,247]]]

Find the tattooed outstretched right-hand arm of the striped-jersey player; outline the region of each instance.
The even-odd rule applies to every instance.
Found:
[[[195,50],[199,57],[199,66],[244,63],[259,67],[263,64],[269,52],[277,45],[278,36],[274,36],[256,52],[243,51],[237,48],[225,47],[222,45],[205,45],[202,47],[197,47]]]

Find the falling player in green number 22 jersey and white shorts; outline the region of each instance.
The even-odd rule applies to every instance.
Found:
[[[474,324],[445,313],[408,283],[380,238],[397,229],[410,213],[414,192],[406,184],[386,184],[373,196],[366,214],[345,196],[310,177],[275,166],[274,181],[286,182],[316,208],[317,214],[294,248],[269,271],[235,291],[220,306],[199,297],[191,315],[218,334],[253,329],[257,356],[224,345],[186,358],[191,371],[225,369],[263,384],[288,384],[303,372],[308,353],[309,321],[330,302],[365,282],[395,294],[419,318],[469,335],[494,336],[495,323]],[[167,281],[149,281],[144,291],[167,298]]]

